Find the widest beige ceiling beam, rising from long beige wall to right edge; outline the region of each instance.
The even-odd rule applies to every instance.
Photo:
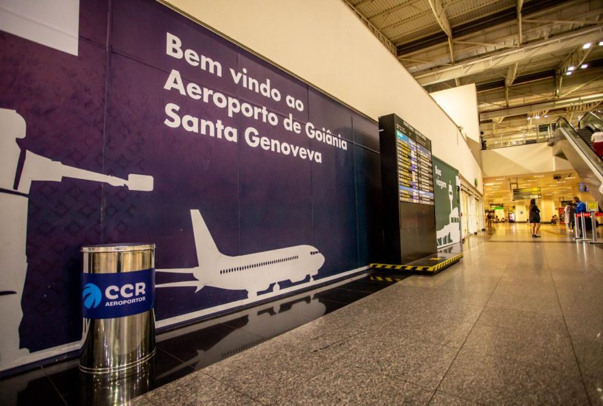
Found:
[[[456,77],[473,75],[489,69],[508,67],[510,64],[516,62],[523,62],[563,49],[578,47],[584,43],[595,42],[602,37],[603,27],[580,29],[517,49],[499,51],[483,58],[456,64],[454,67],[444,67],[428,73],[419,73],[418,75],[415,75],[415,79],[423,86],[444,82],[446,80],[455,79]]]

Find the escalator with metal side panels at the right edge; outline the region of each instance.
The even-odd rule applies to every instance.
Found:
[[[588,112],[578,123],[578,129],[561,117],[554,128],[555,135],[548,143],[553,147],[553,154],[569,160],[593,198],[603,207],[603,160],[593,150],[591,141],[593,132],[603,131],[603,117]]]

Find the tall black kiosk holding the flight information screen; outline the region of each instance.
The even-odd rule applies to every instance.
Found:
[[[437,252],[431,141],[391,114],[379,118],[384,261],[406,264]]]

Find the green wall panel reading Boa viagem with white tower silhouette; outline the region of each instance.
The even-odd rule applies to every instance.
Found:
[[[460,242],[458,171],[432,156],[438,248]]]

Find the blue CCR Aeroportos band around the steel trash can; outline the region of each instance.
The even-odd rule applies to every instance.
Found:
[[[144,313],[155,303],[155,269],[114,274],[82,274],[82,315],[120,318]]]

